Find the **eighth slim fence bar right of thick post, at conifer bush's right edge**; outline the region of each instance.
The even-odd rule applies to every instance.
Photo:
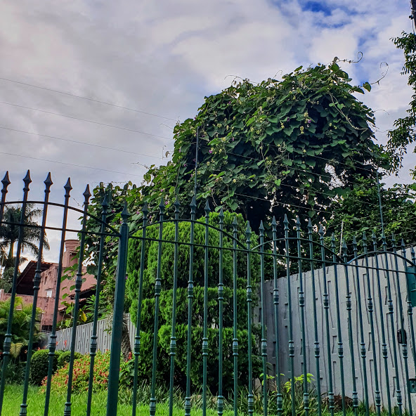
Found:
[[[252,228],[247,221],[245,230],[247,242],[247,357],[249,360],[249,394],[247,396],[247,410],[249,416],[254,412],[254,395],[253,395],[253,361],[252,361],[252,261],[251,261],[251,245],[252,245]]]

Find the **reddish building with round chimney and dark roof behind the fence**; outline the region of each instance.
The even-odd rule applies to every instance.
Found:
[[[75,254],[79,245],[78,240],[65,240],[65,252],[63,254],[62,270],[77,264]],[[18,277],[18,285],[16,295],[21,297],[25,303],[33,303],[33,278],[36,271],[37,261],[30,261],[25,270],[22,271]],[[82,283],[80,304],[84,304],[86,299],[95,292],[96,277],[86,273],[86,266],[82,267],[82,278],[85,281]],[[53,308],[56,299],[56,284],[58,282],[58,263],[42,262],[41,264],[41,282],[39,285],[39,294],[37,306],[43,311],[41,319],[41,331],[49,331],[53,322]],[[68,303],[74,300],[74,290],[70,287],[74,285],[75,277],[68,280],[63,280],[60,283],[59,293],[59,307],[58,307],[58,322],[63,320],[65,306],[62,302],[65,300]],[[64,298],[64,294],[67,294]],[[4,293],[0,290],[0,301],[4,301],[10,297],[10,293]]]

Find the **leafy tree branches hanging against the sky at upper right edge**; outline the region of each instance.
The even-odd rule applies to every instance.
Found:
[[[413,33],[402,32],[401,37],[394,38],[393,42],[397,48],[403,50],[405,64],[401,74],[408,75],[408,84],[413,90],[408,115],[396,119],[394,129],[388,134],[387,147],[394,155],[394,167],[397,168],[402,166],[408,145],[416,142],[416,37]],[[413,152],[416,152],[416,148]],[[416,177],[416,169],[412,170],[412,174]]]

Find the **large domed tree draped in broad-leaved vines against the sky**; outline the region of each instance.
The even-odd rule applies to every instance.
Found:
[[[284,214],[325,216],[336,195],[356,176],[375,177],[390,167],[374,141],[374,117],[353,93],[337,63],[297,68],[282,81],[248,80],[205,98],[195,119],[174,130],[175,147],[166,166],[145,175],[143,199],[151,204],[193,196],[195,137],[200,135],[197,197],[219,209],[239,212],[254,228]],[[370,89],[368,83],[366,89]]]

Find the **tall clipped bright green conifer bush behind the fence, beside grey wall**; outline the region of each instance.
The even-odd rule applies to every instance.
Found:
[[[232,233],[234,216],[226,212],[224,217],[224,230]],[[245,221],[241,215],[238,218],[238,238],[245,242]],[[204,221],[201,219],[200,221]],[[209,224],[218,226],[219,214],[212,213],[209,217]],[[148,238],[158,238],[158,226],[149,226],[147,230]],[[179,241],[189,242],[190,223],[181,222],[178,226]],[[142,235],[141,231],[137,234]],[[165,223],[163,239],[174,241],[174,223]],[[195,226],[195,244],[204,245],[205,227],[197,224]],[[253,246],[256,245],[256,236],[252,235]],[[224,238],[224,247],[233,247],[229,238]],[[209,229],[209,245],[219,245],[219,231]],[[157,272],[157,248],[158,242],[150,241],[145,246],[145,268],[143,276],[143,304],[141,313],[141,356],[139,365],[139,375],[141,379],[149,379],[151,376],[152,363],[152,339],[153,325],[155,316],[155,276]],[[259,259],[253,256],[252,259],[252,285],[256,287],[259,281]],[[126,304],[130,305],[130,313],[133,322],[137,318],[138,288],[141,259],[141,240],[131,240],[129,246],[129,278],[126,282]],[[160,296],[160,329],[159,329],[159,349],[157,355],[157,377],[159,382],[169,383],[169,341],[171,336],[171,317],[172,317],[172,286],[174,277],[174,244],[163,243],[161,258],[161,284],[162,293]],[[178,248],[178,290],[177,309],[176,309],[176,364],[175,364],[175,384],[181,387],[186,383],[186,340],[188,330],[188,278],[189,278],[189,247],[179,245]],[[193,263],[194,281],[194,300],[192,313],[192,369],[191,379],[193,385],[200,385],[202,382],[202,325],[203,325],[203,305],[204,305],[204,247],[195,247]],[[217,249],[209,249],[208,262],[208,337],[209,337],[209,363],[216,363],[218,360],[218,290],[219,283],[219,252]],[[223,380],[224,389],[230,391],[233,384],[233,259],[232,253],[228,250],[223,252],[223,283],[224,291],[224,368]],[[247,382],[247,255],[244,252],[238,253],[238,337],[240,343],[239,352],[239,375],[240,382]],[[254,290],[253,297],[256,298]],[[256,299],[252,303],[256,305]],[[254,330],[256,332],[256,330]],[[257,370],[258,342],[255,342],[254,368]],[[208,385],[214,393],[218,383],[217,365],[209,365]]]

